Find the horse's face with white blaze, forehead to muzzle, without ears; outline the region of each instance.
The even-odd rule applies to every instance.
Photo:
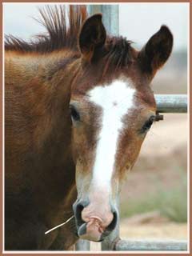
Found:
[[[71,99],[78,188],[74,212],[82,238],[100,241],[117,223],[120,185],[155,118],[150,89],[146,98],[130,79],[121,78]]]

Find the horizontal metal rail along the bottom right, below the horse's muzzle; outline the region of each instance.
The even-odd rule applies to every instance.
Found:
[[[115,250],[180,251],[187,250],[187,242],[170,240],[119,240],[115,245]]]

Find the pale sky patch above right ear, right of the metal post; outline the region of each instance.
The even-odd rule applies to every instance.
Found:
[[[182,50],[188,42],[188,4],[134,3],[119,8],[119,34],[138,45],[145,44],[162,25],[174,34],[174,50]]]

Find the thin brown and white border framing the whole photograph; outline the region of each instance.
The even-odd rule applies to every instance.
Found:
[[[17,1],[15,1],[15,0],[12,0],[12,1],[3,1],[3,2],[17,2]],[[3,14],[2,14],[2,3],[3,2],[1,2],[1,5],[0,5],[0,14],[1,14],[1,17],[2,18],[0,18],[0,22],[1,22],[1,31],[0,31],[0,38],[1,38],[1,46],[3,47],[3,42],[2,42],[2,20],[3,20]],[[25,0],[20,0],[19,2],[23,2],[23,3],[25,3],[25,2],[27,2],[27,1],[25,1]],[[37,1],[30,1],[30,2],[43,2],[43,1],[40,1],[40,0],[37,0]],[[58,0],[56,0],[56,1],[46,1],[45,3],[48,3],[48,2],[59,2],[60,3],[60,1],[58,1]],[[68,1],[63,1],[63,3],[65,3],[65,2],[85,2],[85,3],[87,3],[87,2],[103,2],[103,1],[99,1],[99,0],[96,0],[96,1],[86,1],[86,0],[82,0],[82,1],[78,1],[78,0],[68,0]],[[190,0],[182,0],[182,1],[178,1],[178,0],[170,0],[170,1],[166,1],[166,0],[161,0],[161,1],[152,1],[152,0],[146,0],[146,1],[144,1],[144,0],[140,0],[140,1],[138,1],[138,0],[136,0],[136,1],[125,1],[125,0],[122,0],[122,1],[115,1],[115,0],[106,0],[106,1],[104,1],[105,3],[107,3],[107,2],[111,2],[111,3],[115,3],[115,2],[189,2],[190,3],[190,40],[189,40],[189,42],[190,42],[190,45],[192,45],[192,33],[191,33],[191,26],[192,26],[192,18],[191,18],[191,14],[192,14],[192,3],[190,2]],[[189,45],[189,51],[190,51],[190,45]],[[2,68],[3,68],[3,55],[2,55],[2,47],[1,47],[1,50],[0,50],[0,57],[1,57],[1,66],[2,66]],[[190,59],[189,59],[189,65],[191,64],[191,59],[192,59],[192,52],[190,51]],[[190,72],[190,75],[188,75],[188,77],[189,77],[189,80],[190,81],[192,81],[192,67],[191,67],[191,65],[190,65],[190,67],[189,67],[189,72]],[[3,184],[2,184],[2,174],[3,174],[3,159],[2,159],[2,153],[3,153],[3,120],[2,120],[2,118],[3,118],[3,106],[2,106],[2,104],[3,104],[3,77],[2,77],[2,74],[3,74],[3,70],[1,69],[1,71],[0,71],[0,78],[1,78],[1,81],[2,81],[2,86],[1,86],[1,90],[0,90],[0,98],[1,98],[1,104],[0,104],[0,120],[1,120],[1,126],[0,126],[0,142],[1,142],[1,154],[0,154],[0,165],[1,165],[1,168],[0,168],[0,170],[1,170],[1,175],[0,175],[0,184],[1,184],[1,190],[0,190],[0,204],[1,204],[1,206],[2,206],[2,202],[3,202],[3,200],[2,200],[2,195],[3,195],[3,193],[2,193],[2,191],[3,191]],[[190,84],[190,81],[189,81],[189,84]],[[190,87],[189,87],[189,91],[188,91],[188,95],[190,95],[190,92],[191,92],[191,90],[190,90]],[[190,100],[189,100],[189,103],[190,103]],[[190,104],[190,107],[188,108],[188,111],[191,111],[192,110],[192,106],[191,106],[191,104]],[[191,120],[191,118],[189,117],[189,119],[190,119],[190,125],[191,125],[191,122],[192,122],[192,120]],[[192,138],[191,138],[191,136],[190,136],[190,143],[189,143],[190,145],[192,144]],[[189,145],[189,146],[190,146]],[[190,152],[190,155],[189,155],[189,157],[190,157],[190,159],[192,158],[192,153]],[[190,167],[190,169],[191,169],[191,162],[190,162],[190,159],[189,159],[189,167]],[[190,182],[188,183],[188,184],[192,184],[192,178],[191,178],[191,175],[190,175]],[[191,213],[192,213],[192,204],[191,204],[191,201],[192,201],[192,190],[190,189],[190,187],[188,188],[189,190],[189,195],[190,195],[190,219],[191,219]],[[188,195],[188,196],[189,196]],[[6,253],[6,252],[2,252],[2,242],[3,242],[3,234],[2,234],[2,224],[3,224],[3,206],[2,206],[2,210],[0,210],[0,219],[1,219],[1,222],[0,222],[0,253],[1,254],[9,254],[10,256],[12,256],[12,255],[14,255],[15,253]],[[191,230],[191,228],[190,228],[190,238],[192,237],[192,230]],[[190,253],[192,252],[192,239],[191,239],[191,241],[190,241]],[[20,252],[18,252],[17,253],[17,255],[22,255],[22,256],[26,256],[26,255],[29,255],[29,256],[33,256],[33,255],[47,255],[47,254],[51,254],[51,255],[57,255],[57,256],[60,256],[61,254],[58,254],[58,253],[47,253],[47,252],[42,252],[41,254],[39,254],[38,252],[37,253],[20,253]],[[76,255],[76,254],[78,254],[79,256],[83,256],[83,255],[85,255],[85,253],[65,253],[65,252],[63,252],[62,254],[65,254],[65,255]],[[86,253],[86,254],[91,254],[91,255],[99,255],[99,253]],[[101,253],[100,253],[101,254]],[[141,254],[132,254],[132,253],[119,253],[119,252],[117,252],[117,253],[115,253],[115,252],[111,252],[111,253],[102,253],[102,254],[105,254],[105,255],[111,255],[111,254],[123,254],[123,255],[141,255]],[[147,253],[147,254],[149,254],[149,253]],[[159,254],[161,254],[162,255],[162,253],[159,253]],[[188,253],[179,253],[179,254],[176,254],[176,255],[183,255],[183,254],[186,254],[186,255],[190,255],[190,254],[188,254]],[[150,255],[157,255],[157,254],[150,254]],[[163,254],[163,255],[169,255],[168,253],[166,253],[166,254]]]

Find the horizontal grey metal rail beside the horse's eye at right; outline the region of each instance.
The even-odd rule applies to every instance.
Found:
[[[158,112],[160,113],[186,113],[186,94],[155,94]]]

